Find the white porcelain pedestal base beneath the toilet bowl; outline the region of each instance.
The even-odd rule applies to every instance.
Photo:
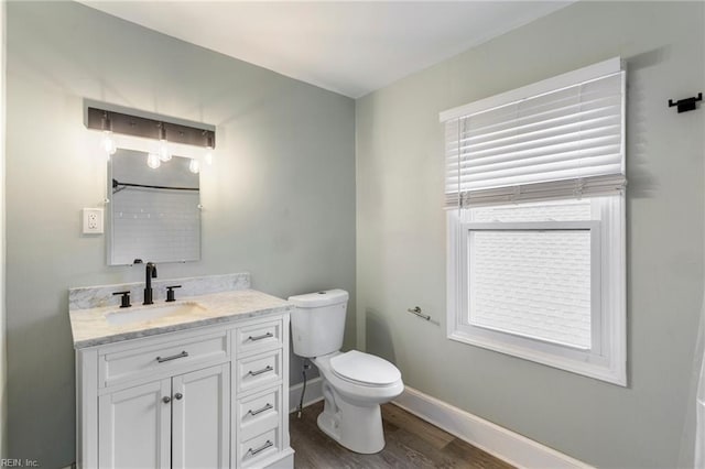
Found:
[[[327,389],[326,389],[327,388]],[[318,415],[318,428],[341,446],[362,455],[384,448],[382,414],[379,404],[354,405],[335,395],[324,382],[325,404]]]

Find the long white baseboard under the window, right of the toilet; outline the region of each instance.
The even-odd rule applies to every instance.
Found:
[[[583,461],[446,404],[413,388],[406,386],[403,394],[392,402],[470,445],[519,468],[592,468]]]

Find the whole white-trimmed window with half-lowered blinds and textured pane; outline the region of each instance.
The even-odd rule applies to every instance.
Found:
[[[626,385],[619,59],[442,113],[448,338]]]

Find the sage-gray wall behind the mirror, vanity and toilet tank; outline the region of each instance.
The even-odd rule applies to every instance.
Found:
[[[47,468],[75,452],[67,288],[143,279],[139,266],[106,266],[105,239],[80,234],[79,210],[100,206],[106,177],[85,144],[83,98],[217,126],[203,260],[161,264],[160,277],[247,271],[283,297],[355,293],[351,99],[78,3],[10,2],[9,456]],[[347,330],[351,346],[354,315]]]

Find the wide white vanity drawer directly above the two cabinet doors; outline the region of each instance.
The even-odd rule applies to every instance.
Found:
[[[172,341],[128,349],[110,348],[101,355],[100,385],[110,386],[124,381],[152,377],[178,368],[188,371],[191,366],[227,361],[230,357],[228,334],[217,332],[183,337]]]

